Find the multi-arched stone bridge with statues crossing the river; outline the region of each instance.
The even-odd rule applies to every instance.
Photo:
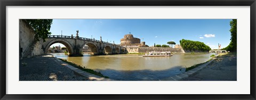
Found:
[[[52,44],[61,43],[68,49],[70,56],[81,56],[82,48],[87,45],[91,48],[93,55],[110,55],[127,53],[125,47],[121,45],[111,44],[102,40],[95,40],[73,36],[57,36],[50,35],[45,39],[43,45],[44,53],[46,54]]]

